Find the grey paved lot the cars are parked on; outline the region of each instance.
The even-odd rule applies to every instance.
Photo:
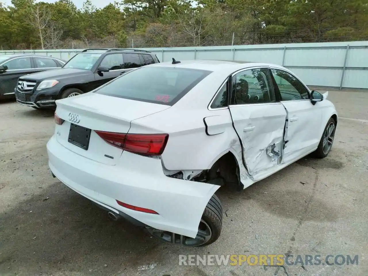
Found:
[[[111,222],[50,176],[53,112],[0,103],[0,275],[368,275],[368,92],[331,91],[329,99],[342,119],[328,158],[304,158],[242,192],[219,190],[223,231],[203,248]],[[358,254],[359,265],[298,264],[287,273],[178,265],[179,254],[208,253]]]

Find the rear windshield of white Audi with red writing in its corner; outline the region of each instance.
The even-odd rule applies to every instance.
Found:
[[[212,71],[144,66],[114,79],[95,93],[173,105]]]

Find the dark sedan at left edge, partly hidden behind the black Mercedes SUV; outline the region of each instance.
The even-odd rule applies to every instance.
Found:
[[[65,63],[61,59],[35,54],[0,55],[0,99],[14,98],[14,87],[19,77],[60,68]]]

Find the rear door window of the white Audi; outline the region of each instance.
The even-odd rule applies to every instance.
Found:
[[[241,71],[232,79],[235,105],[275,102],[269,70],[257,68]]]

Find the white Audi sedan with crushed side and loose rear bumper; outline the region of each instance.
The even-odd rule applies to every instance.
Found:
[[[54,177],[163,241],[216,241],[222,185],[243,190],[332,147],[337,112],[288,69],[176,61],[129,71],[57,100]]]

